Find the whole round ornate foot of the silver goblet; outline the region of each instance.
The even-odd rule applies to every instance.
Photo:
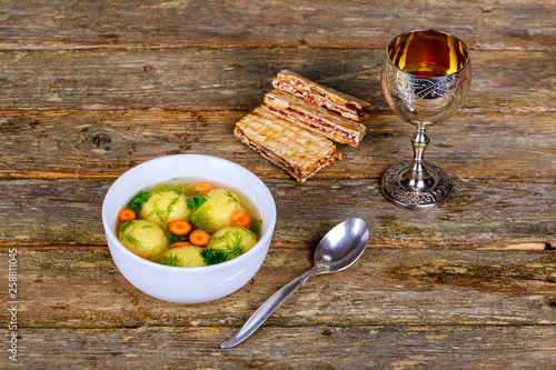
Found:
[[[390,167],[380,183],[383,196],[394,204],[409,209],[440,204],[451,191],[450,178],[438,166],[425,164],[426,173],[417,176],[411,176],[410,161]]]

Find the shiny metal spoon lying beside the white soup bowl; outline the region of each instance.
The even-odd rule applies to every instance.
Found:
[[[369,228],[359,219],[344,221],[320,240],[315,250],[315,267],[284,286],[272,294],[247,320],[236,336],[221,343],[221,348],[231,348],[255,332],[274,311],[304,284],[309,277],[332,273],[347,269],[363,254],[369,241]]]

